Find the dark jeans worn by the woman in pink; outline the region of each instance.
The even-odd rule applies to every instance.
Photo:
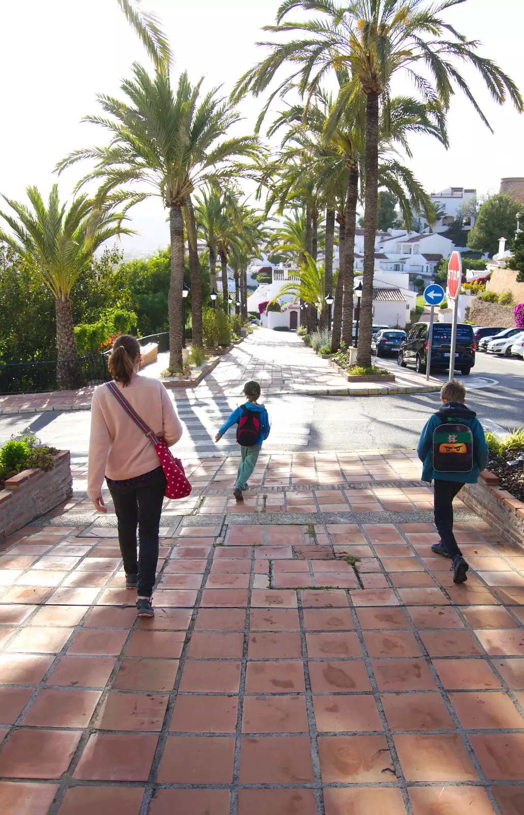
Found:
[[[114,482],[109,487],[118,520],[118,542],[125,574],[138,574],[138,597],[151,597],[155,585],[165,487],[166,479],[161,468],[151,481],[140,487],[121,487]]]

